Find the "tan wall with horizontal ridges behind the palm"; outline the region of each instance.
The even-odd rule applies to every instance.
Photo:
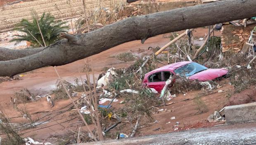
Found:
[[[86,9],[92,10],[96,7],[110,7],[120,1],[125,2],[125,0],[85,0],[85,3]],[[83,14],[83,1],[35,0],[0,7],[0,32],[11,30],[22,18],[31,20],[32,11],[36,11],[39,15],[50,12],[56,18],[64,20],[77,18]]]

